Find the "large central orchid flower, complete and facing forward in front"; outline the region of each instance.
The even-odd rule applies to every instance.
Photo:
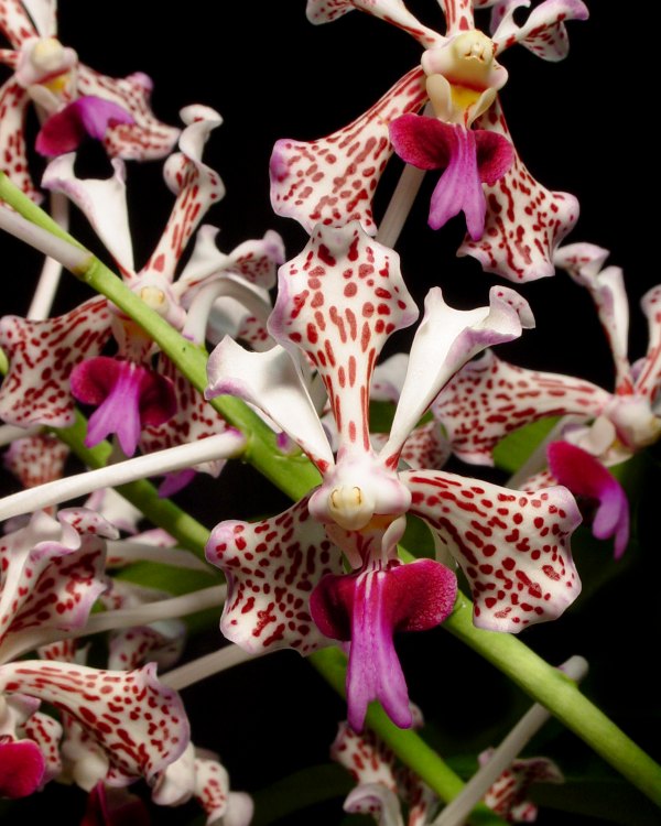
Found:
[[[301,254],[280,268],[269,319],[278,346],[247,352],[226,338],[208,365],[208,398],[229,393],[260,409],[322,475],[321,486],[284,513],[213,531],[207,558],[229,588],[221,630],[249,651],[289,646],[305,654],[328,638],[350,640],[347,694],[356,729],[372,699],[400,727],[411,725],[392,634],[432,628],[452,611],[456,580],[442,563],[462,566],[475,621],[490,630],[516,632],[554,618],[579,590],[568,548],[579,518],[566,489],[521,496],[443,471],[398,472],[407,436],[456,370],[533,324],[517,293],[494,287],[489,307],[460,312],[440,289],[430,292],[389,438],[378,454],[372,448],[375,363],[388,337],[416,317],[395,252],[370,240],[358,221],[318,225]],[[302,378],[300,351],[326,387],[336,456]],[[408,513],[427,523],[442,562],[398,558]]]

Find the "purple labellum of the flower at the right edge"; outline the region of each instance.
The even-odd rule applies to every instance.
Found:
[[[615,558],[619,559],[629,542],[629,501],[622,486],[596,457],[568,442],[552,442],[546,457],[561,485],[598,502],[593,534],[598,540],[615,536]]]

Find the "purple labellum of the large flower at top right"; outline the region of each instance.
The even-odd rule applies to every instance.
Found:
[[[468,235],[478,241],[487,211],[481,185],[491,186],[509,170],[514,157],[511,143],[496,132],[412,113],[390,123],[390,140],[407,163],[444,171],[432,194],[430,227],[440,229],[463,211]]]

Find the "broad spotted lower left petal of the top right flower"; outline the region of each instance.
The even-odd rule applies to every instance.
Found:
[[[414,68],[369,111],[348,127],[316,141],[279,140],[271,156],[274,211],[295,218],[312,233],[316,224],[358,220],[376,235],[371,200],[392,152],[388,124],[426,100],[424,73]]]

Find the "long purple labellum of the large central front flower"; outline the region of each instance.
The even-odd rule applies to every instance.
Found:
[[[348,720],[360,731],[367,705],[378,699],[400,728],[413,719],[409,693],[392,635],[424,631],[443,622],[456,597],[455,575],[432,559],[381,567],[365,566],[349,575],[325,576],[310,598],[310,610],[326,637],[349,640]]]

